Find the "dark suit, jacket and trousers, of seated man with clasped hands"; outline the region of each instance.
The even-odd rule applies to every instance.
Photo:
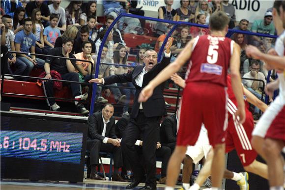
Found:
[[[104,123],[102,111],[97,111],[88,117],[88,134],[87,134],[87,150],[90,150],[90,165],[99,164],[99,152],[113,152],[114,167],[122,166],[121,147],[116,147],[111,143],[103,143],[105,137],[116,139],[115,135],[115,118],[112,116],[110,122],[107,123],[105,136],[102,136]]]

